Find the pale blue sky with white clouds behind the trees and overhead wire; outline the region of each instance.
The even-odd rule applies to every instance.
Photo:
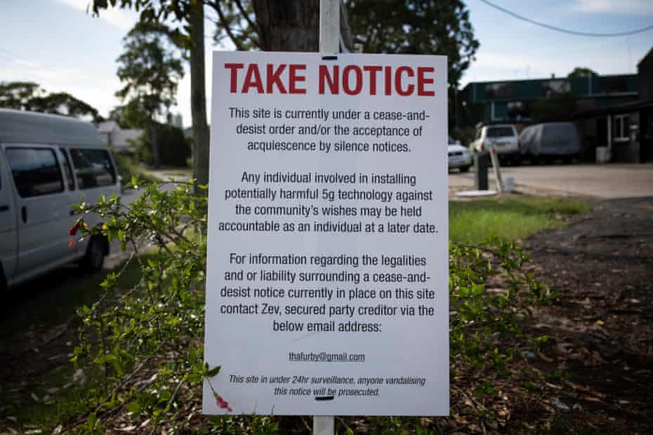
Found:
[[[116,59],[122,39],[136,23],[132,11],[114,9],[94,18],[91,0],[0,0],[0,81],[34,81],[48,92],[67,92],[107,116],[121,102]],[[653,25],[653,0],[491,0],[518,15],[577,32],[626,32]],[[636,74],[653,48],[653,29],[631,36],[574,36],[517,20],[466,0],[475,37],[475,61],[463,76],[470,81],[566,76],[574,67],[599,74]],[[207,10],[208,11],[208,10]],[[211,13],[205,20],[206,91],[211,111]],[[173,112],[190,126],[190,73],[178,89]],[[209,118],[210,119],[210,118]]]

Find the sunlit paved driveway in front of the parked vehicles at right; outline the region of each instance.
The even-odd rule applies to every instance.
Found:
[[[489,168],[489,187],[494,189],[494,173]],[[653,164],[612,163],[607,165],[505,166],[503,181],[512,177],[517,190],[542,189],[598,198],[635,198],[653,196]],[[449,186],[475,189],[475,174],[449,173]]]

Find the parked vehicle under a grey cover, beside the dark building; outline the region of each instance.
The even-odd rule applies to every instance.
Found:
[[[550,122],[528,126],[519,136],[521,153],[534,158],[571,161],[581,152],[578,131],[572,122]]]

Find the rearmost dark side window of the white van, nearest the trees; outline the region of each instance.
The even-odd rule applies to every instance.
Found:
[[[116,170],[105,149],[70,148],[79,189],[116,184]]]

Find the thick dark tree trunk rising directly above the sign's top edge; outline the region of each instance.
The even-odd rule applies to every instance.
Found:
[[[317,51],[319,0],[253,0],[263,51]]]

